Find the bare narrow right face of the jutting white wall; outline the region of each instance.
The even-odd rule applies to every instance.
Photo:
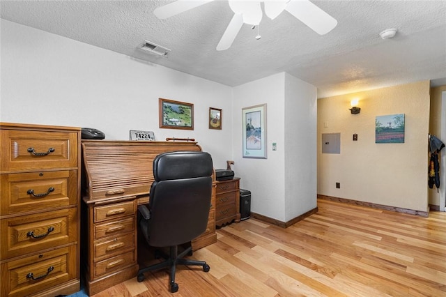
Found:
[[[316,125],[317,89],[285,76],[285,220],[317,206]]]

